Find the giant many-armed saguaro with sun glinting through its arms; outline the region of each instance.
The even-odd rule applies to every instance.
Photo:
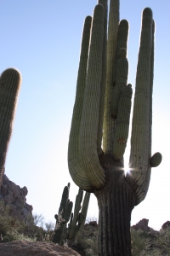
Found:
[[[129,172],[123,154],[127,145],[132,86],[127,84],[127,20],[119,21],[119,0],[99,0],[82,32],[68,149],[73,181],[96,195],[99,205],[99,255],[130,255],[130,220],[134,206],[144,200],[151,167],[154,20],[144,9],[133,106]]]

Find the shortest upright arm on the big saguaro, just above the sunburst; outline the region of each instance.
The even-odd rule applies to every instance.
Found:
[[[122,159],[127,146],[132,94],[132,85],[127,84],[122,91],[118,108],[115,142],[113,144],[113,157],[115,160]]]

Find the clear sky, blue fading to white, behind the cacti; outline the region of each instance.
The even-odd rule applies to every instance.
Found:
[[[82,24],[87,15],[93,14],[96,3],[97,0],[1,0],[0,71],[17,67],[22,73],[6,175],[20,187],[27,187],[27,203],[47,221],[54,221],[68,182],[71,201],[75,201],[78,191],[68,172],[67,145]],[[121,19],[130,24],[128,83],[133,84],[133,90],[144,7],[153,10],[156,20],[152,148],[153,153],[161,152],[163,160],[161,166],[152,169],[148,195],[134,208],[132,224],[149,218],[150,226],[159,230],[170,220],[170,2],[121,0]],[[98,217],[94,196],[88,216]]]

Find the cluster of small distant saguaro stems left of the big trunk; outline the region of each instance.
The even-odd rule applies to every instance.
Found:
[[[73,203],[69,200],[69,191],[70,183],[65,186],[59,206],[59,212],[58,214],[54,215],[56,224],[54,229],[53,242],[59,243],[59,245],[63,245],[64,240],[68,240],[69,247],[72,247],[72,244],[76,240],[77,233],[80,232],[84,226],[88,212],[90,193],[86,192],[82,202],[83,191],[82,189],[79,189],[75,202],[74,212],[71,212]],[[67,227],[68,222],[69,224]]]

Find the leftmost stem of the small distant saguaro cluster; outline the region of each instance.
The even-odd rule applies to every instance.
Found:
[[[53,242],[59,243],[59,245],[63,244],[63,235],[66,229],[66,224],[71,218],[73,203],[72,201],[69,200],[69,190],[70,190],[70,183],[68,183],[68,185],[65,186],[65,189],[63,190],[60,206],[59,206],[59,212],[58,214],[54,215],[54,218],[56,219],[56,224],[55,224]]]

